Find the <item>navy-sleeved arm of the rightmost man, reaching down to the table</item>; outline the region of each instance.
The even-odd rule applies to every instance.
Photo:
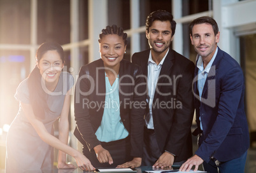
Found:
[[[227,71],[220,85],[220,97],[218,99],[218,112],[210,133],[203,141],[196,155],[209,162],[211,155],[220,147],[231,129],[236,111],[243,92],[243,73],[239,67],[233,67]],[[209,93],[208,93],[209,94]],[[216,100],[217,101],[217,100]],[[221,129],[221,130],[220,130]]]

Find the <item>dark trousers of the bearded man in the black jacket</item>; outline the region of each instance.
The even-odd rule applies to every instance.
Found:
[[[143,158],[141,166],[152,166],[157,162],[162,152],[157,144],[155,130],[144,128]],[[186,160],[174,162],[173,165],[181,166]]]

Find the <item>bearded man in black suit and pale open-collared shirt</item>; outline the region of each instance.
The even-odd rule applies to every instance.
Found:
[[[194,63],[170,48],[175,27],[171,13],[150,13],[146,19],[150,50],[132,55],[148,79],[142,165],[171,167],[192,156]]]

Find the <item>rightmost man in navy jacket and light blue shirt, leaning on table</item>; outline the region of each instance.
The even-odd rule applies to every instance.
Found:
[[[218,48],[217,22],[200,17],[190,24],[190,39],[198,59],[195,95],[199,149],[180,170],[203,163],[208,172],[244,172],[249,133],[245,115],[245,81],[238,62]]]

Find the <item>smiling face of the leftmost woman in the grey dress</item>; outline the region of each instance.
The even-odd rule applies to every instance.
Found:
[[[48,50],[37,62],[37,66],[46,83],[57,83],[64,63],[57,50]]]

